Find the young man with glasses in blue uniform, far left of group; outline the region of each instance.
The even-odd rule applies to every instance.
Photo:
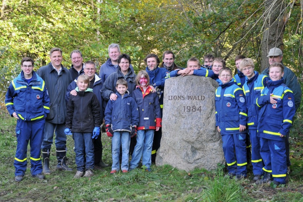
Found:
[[[49,113],[49,97],[45,83],[35,71],[34,60],[22,58],[22,72],[8,87],[5,106],[9,114],[17,119],[17,151],[14,161],[15,181],[20,182],[27,166],[27,145],[31,147],[31,174],[38,179],[42,175],[40,148],[44,134],[45,117]]]

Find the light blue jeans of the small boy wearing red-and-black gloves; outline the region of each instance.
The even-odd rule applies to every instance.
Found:
[[[119,170],[120,146],[122,144],[121,170],[128,171],[129,144],[131,136],[128,131],[115,131],[112,137],[112,170]]]

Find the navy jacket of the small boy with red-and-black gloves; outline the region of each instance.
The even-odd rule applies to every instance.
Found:
[[[128,91],[122,97],[116,93],[117,100],[109,100],[105,108],[105,124],[111,124],[113,131],[132,131],[139,122],[138,106]]]

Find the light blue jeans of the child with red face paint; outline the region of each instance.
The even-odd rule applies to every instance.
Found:
[[[132,160],[129,164],[131,169],[138,167],[139,161],[142,156],[142,165],[147,168],[151,167],[151,148],[154,139],[155,130],[138,130],[137,131],[137,144],[132,154]],[[142,155],[143,154],[143,155]]]

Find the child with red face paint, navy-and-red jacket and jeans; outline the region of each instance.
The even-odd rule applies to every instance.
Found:
[[[162,117],[159,98],[152,93],[149,86],[149,76],[146,71],[140,71],[136,77],[136,90],[132,92],[139,108],[139,123],[137,126],[137,144],[132,154],[129,170],[138,167],[142,157],[142,165],[146,171],[151,171],[151,149],[154,138],[154,131],[159,131]]]

